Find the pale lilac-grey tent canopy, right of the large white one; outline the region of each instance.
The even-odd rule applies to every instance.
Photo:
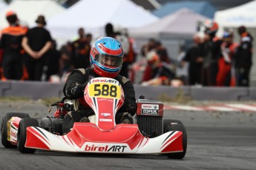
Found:
[[[194,13],[187,8],[177,10],[159,21],[145,25],[137,29],[132,29],[130,35],[134,37],[154,37],[154,38],[184,38],[197,33],[199,21],[207,18],[198,13]]]

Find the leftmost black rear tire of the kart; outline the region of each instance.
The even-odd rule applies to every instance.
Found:
[[[10,120],[12,117],[19,117],[19,118],[29,118],[29,115],[27,113],[16,113],[16,112],[9,112],[4,115],[4,117],[1,119],[1,144],[5,148],[16,148],[16,145],[13,145],[10,143],[9,140],[7,140],[7,121]]]

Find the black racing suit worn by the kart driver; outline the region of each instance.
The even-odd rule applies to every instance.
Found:
[[[78,84],[81,84],[84,88],[88,81],[97,77],[100,76],[96,75],[96,73],[93,72],[93,69],[74,69],[73,72],[71,72],[68,76],[63,92],[66,97],[71,100],[75,100],[74,105],[76,106],[74,107],[76,111],[70,112],[70,114],[68,114],[70,116],[65,116],[62,126],[63,132],[68,132],[68,130],[72,128],[73,122],[79,122],[79,120],[81,120],[83,117],[94,115],[91,108],[88,108],[79,102],[79,100],[81,100],[80,98],[83,98],[84,96],[83,92],[81,92],[79,96],[73,96],[71,90]],[[137,110],[137,103],[135,99],[134,85],[131,83],[131,81],[122,75],[117,75],[114,79],[119,81],[125,93],[125,101],[116,113],[116,123],[118,124],[122,122],[124,115],[129,115],[131,117],[135,114]]]

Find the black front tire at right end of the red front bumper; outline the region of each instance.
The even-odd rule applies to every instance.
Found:
[[[163,132],[180,131],[183,132],[183,152],[166,154],[171,159],[183,159],[187,151],[187,132],[186,128],[180,120],[163,120]]]

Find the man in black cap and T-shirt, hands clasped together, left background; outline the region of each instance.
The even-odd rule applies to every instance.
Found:
[[[47,50],[50,49],[51,36],[45,29],[44,16],[36,19],[37,27],[27,31],[22,39],[22,47],[27,53],[27,72],[30,81],[42,81],[43,67]]]

